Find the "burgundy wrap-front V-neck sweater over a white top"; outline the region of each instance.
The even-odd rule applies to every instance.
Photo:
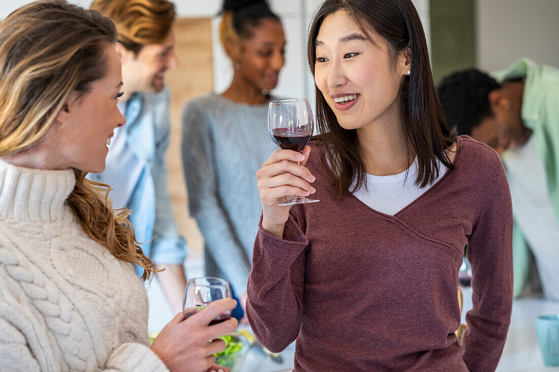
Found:
[[[497,154],[458,138],[455,169],[394,216],[333,197],[320,148],[307,167],[319,203],[291,208],[283,239],[260,229],[247,314],[295,371],[492,371],[512,305],[513,217]],[[458,269],[468,243],[473,309],[459,345]]]

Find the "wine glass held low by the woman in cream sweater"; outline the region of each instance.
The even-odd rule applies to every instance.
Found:
[[[231,284],[219,277],[201,276],[188,280],[182,299],[184,319],[203,310],[212,301],[231,298]],[[231,310],[219,314],[212,324],[217,324],[231,318]]]

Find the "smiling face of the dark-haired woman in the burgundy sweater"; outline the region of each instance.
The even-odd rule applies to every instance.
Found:
[[[386,41],[363,34],[343,11],[324,18],[315,41],[315,83],[344,129],[363,128],[400,115],[400,84],[409,69],[396,65]]]

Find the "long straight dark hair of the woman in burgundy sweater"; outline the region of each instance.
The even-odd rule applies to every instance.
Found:
[[[381,36],[396,65],[399,53],[411,50],[411,74],[400,86],[400,117],[406,133],[408,155],[418,158],[416,185],[425,187],[438,177],[440,161],[449,169],[453,165],[448,149],[456,134],[449,130],[440,106],[429,64],[427,41],[419,15],[410,0],[326,0],[316,12],[309,30],[307,56],[315,73],[315,41],[324,18],[343,11],[352,18],[364,35],[371,31]],[[370,37],[370,36],[369,36]],[[371,39],[371,42],[373,40]],[[366,169],[357,139],[357,131],[344,129],[316,87],[316,119],[322,135],[323,157],[333,173],[334,194],[340,197],[365,185]],[[355,183],[354,183],[355,182]],[[353,188],[352,184],[354,185]]]

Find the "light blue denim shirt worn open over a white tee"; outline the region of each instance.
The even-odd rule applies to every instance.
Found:
[[[132,214],[136,239],[146,256],[158,265],[182,265],[187,254],[184,239],[179,235],[167,189],[165,155],[169,147],[170,93],[167,88],[157,94],[135,93],[126,104],[126,144],[141,164],[142,171],[127,207]],[[117,167],[118,164],[107,164]],[[126,172],[126,169],[122,169]],[[93,181],[113,188],[113,179],[103,173],[90,173]],[[114,174],[114,172],[112,172]],[[110,196],[110,194],[109,194]],[[135,267],[141,276],[143,269]]]

